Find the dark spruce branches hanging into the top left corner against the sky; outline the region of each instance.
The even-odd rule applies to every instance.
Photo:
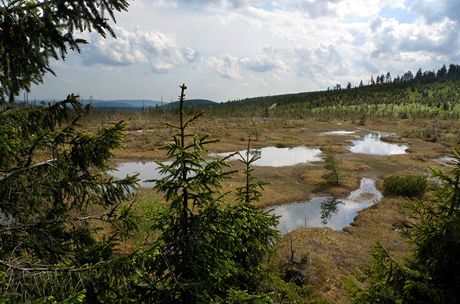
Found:
[[[50,59],[87,43],[79,32],[115,37],[109,22],[128,0],[16,0],[0,3],[0,104],[53,73]]]

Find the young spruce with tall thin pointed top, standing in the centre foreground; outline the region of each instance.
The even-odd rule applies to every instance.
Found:
[[[278,236],[276,217],[252,205],[259,194],[250,176],[241,203],[225,204],[221,183],[231,173],[224,170],[230,156],[207,161],[205,147],[215,140],[187,133],[201,113],[187,118],[185,89],[179,123],[169,124],[177,131],[167,145],[172,163],[160,164],[165,177],[155,186],[169,210],[153,223],[159,238],[144,255],[139,288],[155,303],[210,303],[225,301],[235,290],[257,293],[262,258]]]

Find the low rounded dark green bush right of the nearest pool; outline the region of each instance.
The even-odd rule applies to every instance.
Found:
[[[387,195],[420,197],[426,191],[427,181],[423,176],[392,175],[384,181],[384,191]]]

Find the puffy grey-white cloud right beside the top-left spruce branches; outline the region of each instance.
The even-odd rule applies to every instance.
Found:
[[[159,31],[127,31],[116,27],[117,39],[93,35],[84,64],[127,66],[148,63],[155,73],[170,72],[175,65],[193,62],[198,53],[190,47],[179,47],[175,40]]]

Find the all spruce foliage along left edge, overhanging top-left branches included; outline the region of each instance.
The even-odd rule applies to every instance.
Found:
[[[135,226],[124,201],[136,178],[105,173],[124,123],[80,131],[85,109],[72,94],[48,106],[6,101],[52,72],[50,59],[79,50],[85,41],[75,33],[113,35],[109,21],[126,8],[125,0],[0,4],[0,302],[110,297],[99,284],[113,278],[116,246]]]

